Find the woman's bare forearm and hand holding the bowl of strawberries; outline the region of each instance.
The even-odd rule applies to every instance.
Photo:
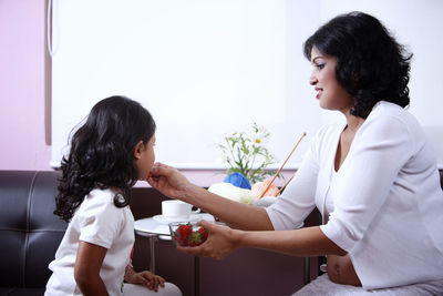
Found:
[[[261,248],[296,256],[347,254],[318,226],[279,232],[245,232],[207,221],[202,221],[200,225],[209,232],[208,239],[197,247],[178,247],[179,251],[215,259],[222,259],[239,247]]]

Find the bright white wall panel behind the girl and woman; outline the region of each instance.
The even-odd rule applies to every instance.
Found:
[[[125,94],[157,121],[157,160],[185,169],[223,167],[224,133],[253,120],[271,131],[282,162],[297,166],[309,137],[339,115],[321,111],[308,84],[302,42],[351,10],[379,17],[414,52],[411,112],[443,153],[437,74],[443,62],[439,0],[55,0],[53,164],[69,131],[100,99]],[[442,154],[443,155],[443,154]],[[443,156],[439,155],[440,162]],[[278,165],[276,165],[278,167]]]

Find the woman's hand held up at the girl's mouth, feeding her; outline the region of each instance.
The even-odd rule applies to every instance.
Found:
[[[192,183],[175,167],[163,163],[155,163],[151,170],[147,183],[163,194],[183,200]]]

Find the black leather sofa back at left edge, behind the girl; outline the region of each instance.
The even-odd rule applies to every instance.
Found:
[[[0,171],[0,295],[43,295],[68,224],[53,215],[59,174]]]

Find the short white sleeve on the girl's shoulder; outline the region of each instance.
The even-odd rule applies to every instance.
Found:
[[[91,197],[85,198],[85,204],[79,213],[79,239],[110,248],[122,228],[123,212],[114,205],[112,198],[87,198]]]

